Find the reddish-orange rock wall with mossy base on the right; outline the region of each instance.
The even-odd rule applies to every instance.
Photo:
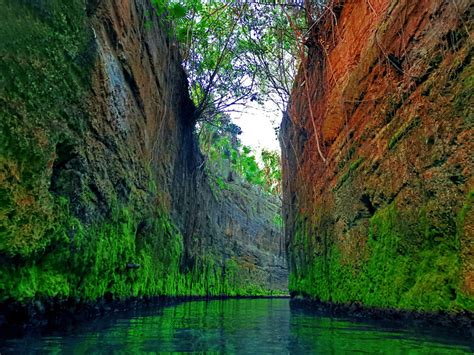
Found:
[[[292,294],[474,310],[472,14],[336,1],[312,28],[281,134]]]

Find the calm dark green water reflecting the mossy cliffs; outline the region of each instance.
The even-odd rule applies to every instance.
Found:
[[[8,340],[0,353],[464,354],[470,346],[449,333],[317,316],[288,299],[231,299],[120,313]]]

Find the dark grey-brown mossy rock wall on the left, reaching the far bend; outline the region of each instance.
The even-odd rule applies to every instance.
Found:
[[[278,204],[211,191],[149,1],[0,8],[0,302],[285,289]]]

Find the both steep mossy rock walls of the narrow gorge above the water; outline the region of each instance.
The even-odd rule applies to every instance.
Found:
[[[230,148],[203,152],[156,3],[0,0],[0,329],[288,295],[472,329],[472,1],[321,8],[279,131],[281,198]]]

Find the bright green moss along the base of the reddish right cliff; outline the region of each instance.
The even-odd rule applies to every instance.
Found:
[[[423,211],[404,215],[394,203],[378,210],[370,221],[367,258],[358,265],[347,262],[334,243],[304,230],[301,225],[290,245],[290,292],[384,308],[474,310],[472,298],[459,289],[456,233],[433,232]]]

